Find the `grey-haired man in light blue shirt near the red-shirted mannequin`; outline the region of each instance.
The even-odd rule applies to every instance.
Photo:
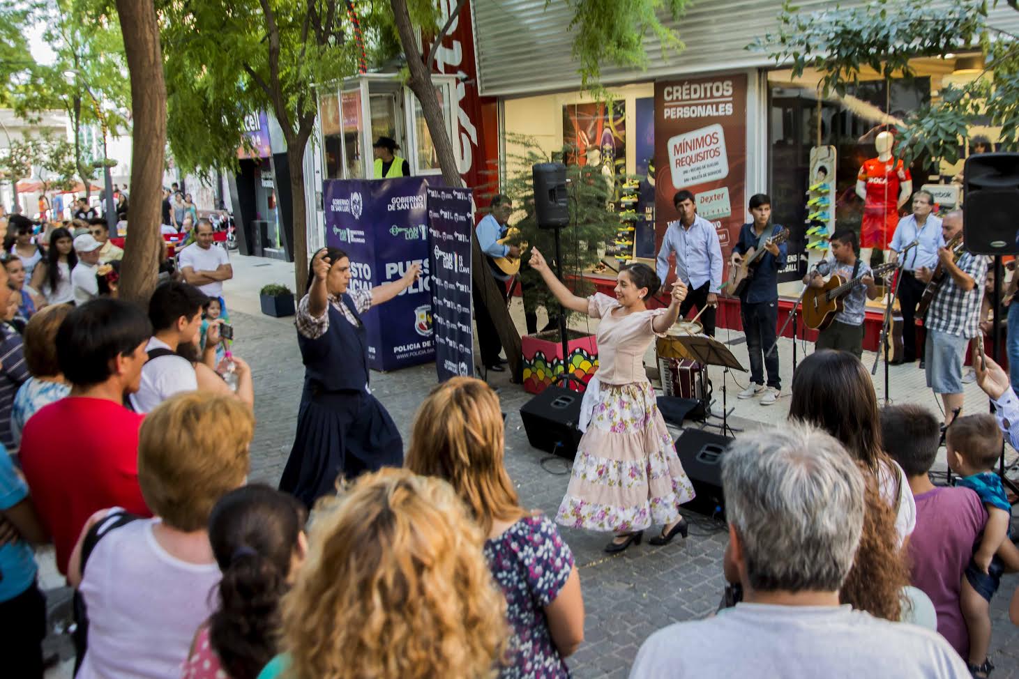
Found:
[[[913,214],[899,220],[899,225],[889,243],[893,261],[914,240],[914,247],[903,254],[902,278],[899,279],[899,307],[902,309],[903,359],[893,363],[911,363],[917,355],[923,356],[923,344],[916,344],[916,305],[923,296],[923,283],[916,280],[916,271],[921,267],[933,269],[937,266],[937,248],[945,246],[942,235],[942,220],[930,214],[934,208],[934,196],[929,191],[913,193]]]

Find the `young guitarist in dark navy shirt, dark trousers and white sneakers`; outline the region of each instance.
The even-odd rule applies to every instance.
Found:
[[[761,396],[761,405],[771,405],[779,400],[782,392],[779,352],[772,351],[766,356],[764,352],[774,344],[779,323],[779,269],[786,263],[786,242],[784,237],[776,236],[781,236],[785,229],[771,223],[771,199],[764,193],[750,197],[750,214],[754,221],[744,224],[740,230],[740,240],[733,246],[730,263],[730,267],[738,267],[751,250],[764,250],[749,274],[752,277],[739,293],[740,317],[750,354],[750,385],[740,392],[739,397]],[[729,293],[732,294],[733,290]],[[764,386],[765,367],[767,387]]]

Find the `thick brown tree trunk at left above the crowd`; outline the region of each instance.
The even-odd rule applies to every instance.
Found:
[[[147,304],[162,258],[161,202],[166,151],[166,83],[153,0],[117,0],[130,71],[130,225],[120,269],[120,297]]]

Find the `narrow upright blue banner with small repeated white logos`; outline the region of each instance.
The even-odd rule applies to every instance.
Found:
[[[428,187],[435,370],[439,382],[474,374],[471,327],[471,191]]]

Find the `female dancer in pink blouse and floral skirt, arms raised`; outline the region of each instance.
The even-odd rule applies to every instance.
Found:
[[[620,271],[615,299],[600,293],[586,299],[574,295],[537,248],[531,250],[531,267],[562,306],[601,319],[598,371],[584,394],[581,413],[584,436],[555,520],[574,528],[614,532],[606,552],[639,545],[652,523],[664,524],[652,545],[666,545],[678,533],[686,537],[680,505],[693,499],[693,487],[644,373],[644,352],[655,335],[663,336],[676,323],[686,285],[673,284],[668,308],[649,309],[644,299],[661,281],[647,265]]]

